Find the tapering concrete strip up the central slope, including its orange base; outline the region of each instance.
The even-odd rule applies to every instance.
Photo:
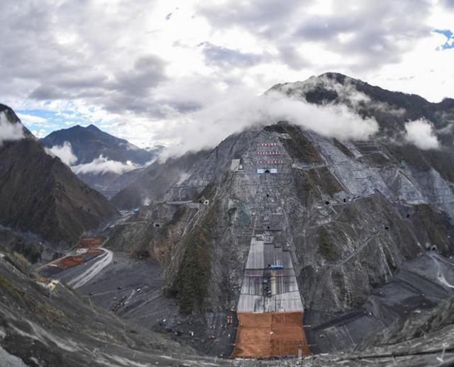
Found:
[[[272,147],[279,149],[279,143]],[[257,198],[258,220],[238,301],[238,333],[233,356],[307,355],[304,309],[291,250],[285,241],[282,205],[279,205],[282,202],[278,197],[279,171],[272,173],[272,167],[268,169],[259,166],[261,162],[256,163],[257,174],[262,175],[257,195],[265,196],[265,200]]]

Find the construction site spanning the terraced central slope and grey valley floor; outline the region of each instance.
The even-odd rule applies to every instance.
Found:
[[[282,129],[250,131],[244,142],[232,138],[236,151],[226,142],[213,154],[222,164],[204,161],[192,179],[171,186],[164,203],[125,211],[90,235],[98,237],[80,239],[67,256],[39,268],[40,275],[200,354],[238,363],[372,345],[395,320],[453,295],[453,260],[443,256],[443,237],[432,243],[418,232],[416,210],[427,209],[401,205],[400,218],[388,203],[397,194],[374,169],[331,140]],[[293,140],[311,155],[295,150]],[[373,150],[347,145],[354,157]],[[221,183],[212,176],[217,166]],[[399,197],[414,200],[407,186],[398,188]],[[414,240],[394,230],[411,221],[424,245],[416,259],[397,247],[419,251]],[[195,240],[199,228],[203,236]],[[203,251],[188,256],[194,244]],[[192,260],[179,262],[180,256]],[[207,263],[199,259],[211,266],[201,267]],[[179,273],[191,282],[166,292]],[[190,312],[182,311],[182,300],[195,305]]]

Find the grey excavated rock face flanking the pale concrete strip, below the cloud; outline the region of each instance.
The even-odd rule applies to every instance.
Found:
[[[216,206],[216,216],[211,218],[213,213],[208,209],[204,215],[215,221],[210,227],[213,241],[214,237],[218,239],[213,242],[214,252],[221,255],[221,249],[227,247],[230,256],[242,254],[232,261],[236,270],[243,268],[254,220],[265,221],[255,219],[253,212],[267,195],[281,212],[282,218],[277,221],[283,224],[284,237],[294,250],[306,303],[321,303],[323,299],[321,307],[326,311],[362,303],[372,286],[387,281],[405,259],[422,254],[428,244],[450,253],[448,235],[454,214],[450,202],[454,197],[450,181],[435,169],[404,169],[388,151],[384,153],[389,156],[387,166],[370,166],[360,160],[364,156],[358,147],[363,143],[358,147],[350,142],[341,145],[338,140],[286,124],[244,132],[235,140],[249,141],[248,149],[231,155],[242,159],[243,170],[198,172],[194,181],[197,186],[201,179],[217,182],[209,204]],[[285,162],[274,164],[278,173],[270,176],[276,182],[272,184],[275,192],[270,193],[256,170],[263,159],[253,155],[256,145],[268,141],[277,142],[276,149],[282,153],[275,160]],[[231,142],[233,138],[221,143],[211,159],[219,160],[217,150],[228,150],[226,145]],[[377,150],[387,149],[372,145]],[[202,170],[204,166],[196,168]],[[186,184],[192,185],[192,178]],[[214,299],[210,297],[209,302]]]

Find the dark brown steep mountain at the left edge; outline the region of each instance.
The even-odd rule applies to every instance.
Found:
[[[0,105],[10,125],[21,125]],[[51,157],[28,130],[0,145],[0,224],[31,232],[54,245],[73,244],[79,235],[116,215],[111,204]]]

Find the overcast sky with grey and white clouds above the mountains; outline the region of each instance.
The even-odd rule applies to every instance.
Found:
[[[226,101],[328,71],[454,97],[454,0],[1,5],[0,103],[39,137],[94,123],[140,147],[175,145]],[[192,128],[203,111],[214,115]]]

